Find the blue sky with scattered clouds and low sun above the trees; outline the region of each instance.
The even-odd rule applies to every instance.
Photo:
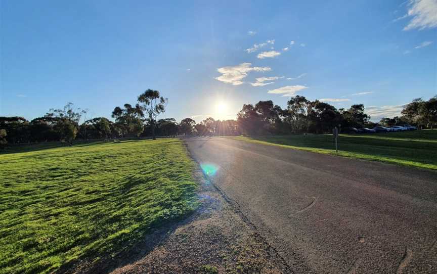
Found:
[[[378,120],[437,94],[437,0],[0,3],[2,116],[109,117],[152,88],[178,121],[293,95]]]

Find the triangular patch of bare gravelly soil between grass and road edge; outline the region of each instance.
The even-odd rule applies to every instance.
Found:
[[[112,271],[120,273],[289,272],[229,201],[202,175],[199,210],[159,238],[153,249]],[[122,261],[118,265],[123,265]]]

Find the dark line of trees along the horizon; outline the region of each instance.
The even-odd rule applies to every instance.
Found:
[[[168,100],[157,90],[148,89],[137,98],[135,106],[124,104],[115,107],[111,117],[86,119],[89,113],[68,103],[62,109],[50,109],[44,116],[31,121],[23,117],[0,117],[0,146],[5,144],[39,143],[73,140],[141,138],[198,135],[261,135],[291,133],[329,133],[337,125],[344,127],[374,127],[412,124],[418,128],[437,125],[437,96],[427,101],[414,99],[404,106],[401,116],[382,118],[378,123],[370,121],[363,104],[348,109],[336,109],[319,100],[310,101],[295,96],[286,108],[272,101],[245,104],[236,120],[215,120],[208,117],[199,123],[192,118],[177,122],[173,118],[157,119],[165,111]],[[83,122],[80,123],[83,117]]]

